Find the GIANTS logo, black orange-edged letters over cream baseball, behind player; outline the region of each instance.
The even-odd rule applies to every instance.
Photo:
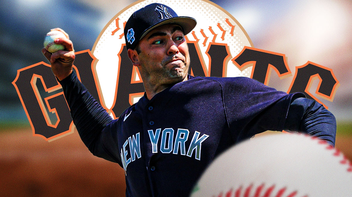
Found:
[[[169,5],[180,16],[187,15],[197,20],[195,29],[186,36],[191,58],[189,74],[205,77],[245,76],[265,85],[269,84],[272,71],[281,79],[291,74],[284,54],[253,48],[238,21],[218,5],[207,0],[198,3],[186,1],[182,5],[168,0],[161,0],[160,3]],[[78,78],[114,118],[136,103],[144,93],[138,69],[132,66],[127,56],[123,27],[134,11],[147,4],[147,1],[138,1],[126,7],[108,22],[92,51],[76,52],[74,69]],[[156,11],[161,16],[163,13],[165,17],[170,17],[162,7],[157,7]],[[132,34],[126,36],[133,38]],[[323,104],[309,91],[316,79],[319,85],[315,93],[332,101],[338,80],[331,69],[310,61],[296,66],[287,93],[303,92],[307,98]],[[12,84],[21,99],[34,136],[50,141],[73,131],[62,88],[49,64],[40,62],[18,70]]]

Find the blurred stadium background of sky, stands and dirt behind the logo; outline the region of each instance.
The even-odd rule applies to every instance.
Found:
[[[352,159],[352,2],[350,0],[212,0],[236,18],[254,47],[283,53],[291,72],[312,61],[340,81],[322,99],[338,121],[336,147]],[[77,132],[50,143],[33,137],[11,84],[17,70],[46,61],[44,35],[61,27],[75,51],[92,49],[103,27],[133,0],[4,0],[0,8],[0,196],[124,196],[123,170],[93,157]],[[269,86],[287,91],[293,75]],[[311,90],[318,86],[315,81]],[[320,97],[318,97],[320,98]]]

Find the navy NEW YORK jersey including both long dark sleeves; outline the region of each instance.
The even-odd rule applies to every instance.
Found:
[[[313,100],[304,99],[304,107],[294,103],[302,93],[287,94],[246,77],[188,77],[151,100],[144,95],[116,120],[75,73],[60,82],[88,149],[124,168],[126,196],[188,196],[217,155],[266,130],[313,133],[334,144],[333,115]],[[312,117],[319,121],[312,123]]]

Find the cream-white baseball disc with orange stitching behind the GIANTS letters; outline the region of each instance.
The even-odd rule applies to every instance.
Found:
[[[209,68],[209,57],[206,51],[209,43],[216,42],[227,44],[230,53],[230,57],[226,61],[227,65],[225,65],[225,77],[251,76],[252,67],[240,71],[232,61],[229,61],[239,54],[244,46],[252,47],[252,42],[239,22],[225,9],[207,0],[137,1],[116,14],[108,22],[92,49],[93,55],[98,59],[95,62],[95,69],[106,107],[111,107],[114,102],[120,62],[118,53],[121,51],[121,46],[125,44],[124,23],[134,11],[155,2],[171,7],[178,16],[193,17],[197,20],[196,27],[187,34],[186,40],[196,42],[201,56],[199,58],[203,61],[206,69]],[[196,57],[190,57],[191,65],[194,58]],[[213,66],[222,67],[223,65]],[[139,80],[138,75],[136,80]],[[138,99],[139,97],[135,98],[133,102],[136,103]]]

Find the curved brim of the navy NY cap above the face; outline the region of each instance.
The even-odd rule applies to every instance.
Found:
[[[180,25],[182,27],[182,29],[183,29],[183,34],[187,35],[197,25],[197,21],[194,18],[192,18],[192,17],[174,17],[174,18],[166,19],[166,20],[163,20],[163,21],[161,21],[161,22],[149,27],[148,29],[146,29],[142,33],[142,36],[140,37],[139,40],[142,40],[142,38],[146,34],[148,34],[150,31],[152,31],[154,28],[162,26],[162,25],[166,25],[166,24]]]

